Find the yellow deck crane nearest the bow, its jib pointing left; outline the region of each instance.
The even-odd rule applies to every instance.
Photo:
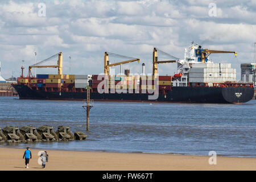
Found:
[[[39,65],[46,61],[52,60],[53,58],[55,58],[57,56],[58,56],[57,65]],[[47,59],[28,67],[28,77],[32,76],[31,68],[58,68],[58,75],[62,75],[62,67],[63,67],[63,56],[62,56],[62,52],[59,52],[59,53],[56,53],[56,55],[48,57]]]

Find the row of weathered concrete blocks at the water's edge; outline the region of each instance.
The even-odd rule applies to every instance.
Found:
[[[74,134],[69,130],[69,126],[58,126],[57,131],[53,131],[52,126],[23,126],[20,129],[15,126],[0,128],[0,142],[41,142],[41,141],[71,141],[85,140],[87,135],[81,131]]]

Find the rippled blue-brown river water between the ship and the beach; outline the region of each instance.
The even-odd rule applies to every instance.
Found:
[[[84,141],[2,143],[0,147],[48,150],[150,152],[256,157],[256,100],[245,104],[94,102],[90,130],[81,101],[0,97],[0,127],[67,125]]]

